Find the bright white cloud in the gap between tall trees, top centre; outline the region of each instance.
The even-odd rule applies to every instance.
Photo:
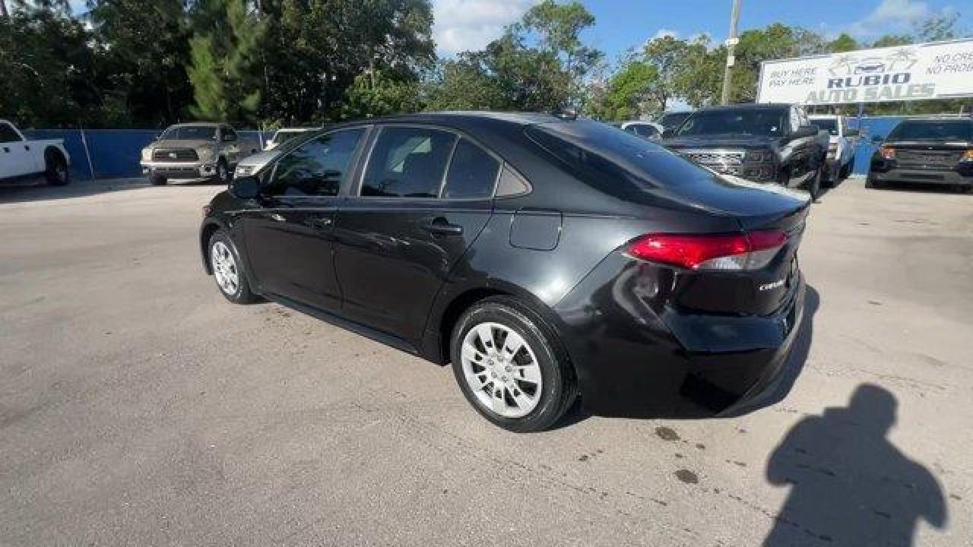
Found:
[[[434,0],[433,37],[440,55],[482,50],[535,0]]]

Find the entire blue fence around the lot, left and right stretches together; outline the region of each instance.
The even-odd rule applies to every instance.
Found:
[[[878,147],[878,142],[900,121],[898,116],[861,118],[861,138],[855,152],[854,172],[868,172],[869,160]],[[856,127],[858,120],[852,118],[851,125]],[[85,129],[84,138],[88,143],[90,164],[85,153],[85,145],[80,129],[33,129],[26,131],[31,139],[60,138],[71,155],[71,171],[75,178],[120,178],[141,176],[138,164],[139,153],[156,138],[160,131],[140,129]],[[238,131],[244,138],[263,143],[267,133],[260,131]]]

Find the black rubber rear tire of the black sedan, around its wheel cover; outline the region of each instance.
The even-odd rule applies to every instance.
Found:
[[[478,394],[474,393],[473,387],[467,383],[461,360],[463,341],[471,329],[486,322],[498,323],[520,335],[536,357],[536,364],[541,374],[540,396],[533,410],[523,417],[507,418],[496,414],[486,407],[478,398]],[[502,349],[500,351],[502,352]],[[554,425],[577,397],[574,369],[568,362],[556,336],[536,312],[516,299],[490,297],[466,310],[452,329],[450,360],[456,383],[459,384],[466,400],[484,418],[509,431],[517,433],[543,431]],[[486,377],[486,367],[482,369]],[[524,384],[521,385],[523,387]],[[489,391],[492,389],[493,387],[488,388]],[[505,392],[504,397],[508,393]],[[510,395],[513,397],[513,394]]]

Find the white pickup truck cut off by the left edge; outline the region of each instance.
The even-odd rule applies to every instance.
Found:
[[[49,184],[63,186],[70,165],[63,140],[27,140],[14,124],[0,120],[0,182],[43,176]]]

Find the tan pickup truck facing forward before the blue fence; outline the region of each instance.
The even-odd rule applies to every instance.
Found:
[[[236,163],[260,151],[226,124],[178,124],[142,149],[142,173],[152,184],[169,180],[230,182]]]

